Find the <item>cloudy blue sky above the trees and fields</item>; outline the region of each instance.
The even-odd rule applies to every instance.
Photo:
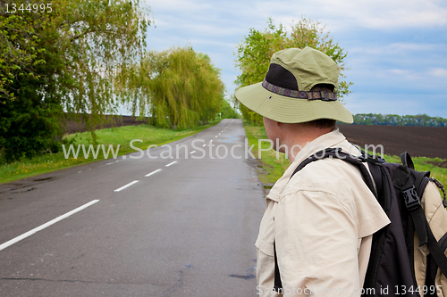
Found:
[[[240,70],[236,49],[269,18],[291,28],[301,17],[325,25],[348,53],[345,106],[355,113],[427,114],[447,118],[447,1],[142,0],[154,23],[148,50],[192,46],[222,70],[226,96]]]

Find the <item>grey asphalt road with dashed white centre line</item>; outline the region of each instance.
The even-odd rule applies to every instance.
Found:
[[[0,296],[256,296],[265,202],[244,140],[223,120],[173,159],[157,147],[0,185]]]

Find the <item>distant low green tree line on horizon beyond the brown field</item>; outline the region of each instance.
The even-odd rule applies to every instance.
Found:
[[[358,113],[353,115],[356,125],[425,126],[447,127],[447,119],[429,117],[426,114],[405,115]]]

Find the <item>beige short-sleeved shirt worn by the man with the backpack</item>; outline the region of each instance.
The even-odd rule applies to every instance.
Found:
[[[341,160],[324,159],[291,173],[326,147],[358,150],[335,128],[306,145],[266,196],[257,236],[257,294],[359,296],[372,235],[390,223],[361,174]],[[274,293],[274,244],[283,293]]]

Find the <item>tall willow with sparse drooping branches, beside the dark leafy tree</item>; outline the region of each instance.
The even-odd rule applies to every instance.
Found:
[[[93,128],[117,111],[114,78],[141,57],[148,8],[139,0],[58,1],[52,49],[63,57],[63,107]]]

